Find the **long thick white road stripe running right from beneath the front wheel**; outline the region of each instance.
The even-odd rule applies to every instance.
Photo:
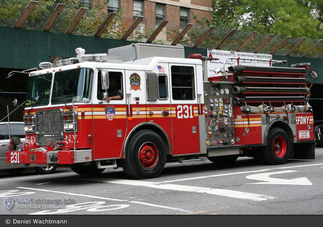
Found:
[[[131,186],[143,186],[143,187],[149,187],[149,188],[155,188],[155,189],[165,189],[165,190],[174,190],[174,191],[208,193],[208,194],[221,195],[221,196],[227,196],[232,198],[249,199],[253,201],[261,201],[261,200],[275,198],[275,197],[266,196],[266,195],[239,192],[239,191],[226,190],[226,189],[215,189],[215,188],[173,185],[173,184],[161,185],[158,182],[154,183],[154,182],[139,181],[139,180],[112,179],[112,178],[100,178],[100,177],[93,177],[93,178],[87,178],[82,180],[99,181],[104,183],[131,185]]]

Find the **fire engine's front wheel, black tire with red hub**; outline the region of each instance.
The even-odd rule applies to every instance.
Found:
[[[136,179],[157,177],[166,164],[166,145],[154,131],[141,130],[132,135],[120,160],[125,173]]]

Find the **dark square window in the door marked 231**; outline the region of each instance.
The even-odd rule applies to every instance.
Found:
[[[171,66],[173,100],[194,100],[194,67]]]

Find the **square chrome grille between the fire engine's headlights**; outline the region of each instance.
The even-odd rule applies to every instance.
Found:
[[[63,132],[63,110],[36,112],[37,133]]]

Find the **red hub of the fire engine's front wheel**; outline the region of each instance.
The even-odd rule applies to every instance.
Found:
[[[153,143],[145,143],[139,150],[139,162],[145,168],[152,168],[158,160],[158,149]]]

